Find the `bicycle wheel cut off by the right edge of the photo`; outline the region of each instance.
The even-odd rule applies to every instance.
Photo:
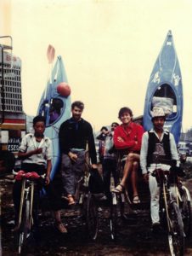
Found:
[[[187,195],[185,188],[182,191],[182,202],[180,210],[184,222],[184,234],[185,236],[189,237],[191,230],[191,206],[189,196]]]

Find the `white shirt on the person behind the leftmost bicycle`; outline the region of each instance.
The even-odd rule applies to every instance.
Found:
[[[20,143],[19,151],[26,153],[37,148],[42,148],[42,153],[32,154],[31,156],[23,160],[23,163],[45,166],[47,160],[52,159],[52,142],[48,137],[42,137],[42,141],[38,143],[36,141],[36,137],[34,137],[33,134],[26,134]]]

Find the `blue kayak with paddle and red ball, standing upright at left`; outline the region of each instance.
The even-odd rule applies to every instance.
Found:
[[[57,61],[51,73],[46,89],[42,93],[37,114],[46,118],[45,136],[52,140],[53,159],[51,179],[54,178],[55,172],[59,169],[60,153],[59,153],[59,127],[71,117],[71,96],[70,93],[65,95],[59,89],[67,84],[65,67],[61,56]],[[66,85],[68,86],[68,85]]]

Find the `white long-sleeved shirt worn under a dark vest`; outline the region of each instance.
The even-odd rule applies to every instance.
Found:
[[[155,136],[158,137],[154,129],[151,129],[150,132],[154,132]],[[168,131],[163,130],[160,142],[162,141],[164,134],[167,134]],[[159,137],[158,137],[159,138]],[[172,133],[169,133],[169,139],[170,139],[170,150],[172,154],[172,160],[178,161],[178,150],[175,143],[175,139],[172,135]],[[142,137],[142,144],[141,144],[141,153],[140,153],[140,166],[142,169],[142,173],[147,172],[153,172],[155,168],[161,168],[164,171],[168,171],[171,166],[165,165],[165,164],[150,164],[150,166],[147,168],[147,153],[148,153],[148,147],[149,147],[149,133],[148,131],[144,132],[144,135]]]

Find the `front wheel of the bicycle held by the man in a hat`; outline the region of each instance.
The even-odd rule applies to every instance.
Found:
[[[168,242],[173,256],[184,255],[184,223],[176,202],[168,206]]]

